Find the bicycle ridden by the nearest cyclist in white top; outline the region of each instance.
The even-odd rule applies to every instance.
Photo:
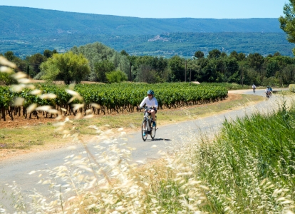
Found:
[[[143,137],[143,141],[147,140],[148,134],[150,134],[150,137],[154,140],[157,131],[157,123],[155,126],[152,126],[152,115],[148,113],[151,109],[152,108],[145,106],[145,115],[143,116],[143,123],[141,125],[141,136]],[[155,119],[157,120],[157,116],[155,116]],[[145,133],[145,136],[143,136],[143,133]]]

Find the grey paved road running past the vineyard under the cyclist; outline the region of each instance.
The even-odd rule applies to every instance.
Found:
[[[252,90],[245,90],[230,93],[253,92]],[[257,90],[256,94],[257,96],[264,96],[264,90]],[[170,151],[175,148],[175,146],[180,146],[187,136],[195,135],[197,137],[200,136],[200,132],[215,133],[222,126],[222,122],[225,118],[229,120],[235,119],[245,114],[251,114],[254,111],[262,111],[266,106],[277,106],[279,99],[279,96],[272,96],[269,101],[262,101],[254,106],[244,107],[194,121],[160,126],[157,130],[155,141],[150,141],[150,138],[148,138],[148,141],[143,142],[140,133],[130,133],[124,136],[128,141],[118,139],[118,143],[126,142],[127,146],[136,148],[132,154],[134,161],[146,161],[150,158],[158,158],[159,155],[157,155],[157,151]],[[90,151],[95,151],[93,147],[96,146],[97,143],[98,142],[89,143]],[[157,148],[154,148],[154,145],[157,145]],[[15,180],[25,193],[29,193],[33,188],[38,188],[39,192],[44,193],[48,190],[48,187],[36,185],[39,178],[37,178],[37,175],[29,175],[29,172],[62,165],[64,163],[64,157],[73,153],[81,153],[82,151],[84,151],[83,146],[77,146],[75,150],[62,148],[55,151],[27,154],[14,158],[13,160],[2,161],[0,163],[0,187],[5,186],[5,183],[11,183]]]

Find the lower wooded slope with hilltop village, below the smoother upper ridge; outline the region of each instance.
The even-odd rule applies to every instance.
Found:
[[[191,57],[195,51],[203,51],[205,55],[212,49],[219,49],[227,54],[232,51],[244,54],[255,52],[267,56],[279,51],[284,56],[293,56],[294,44],[286,41],[281,33],[174,33],[151,36],[109,36],[109,35],[64,35],[64,36],[32,36],[27,39],[1,40],[2,53],[14,51],[16,56],[43,53],[45,49],[67,51],[73,46],[99,41],[115,51],[127,51],[130,55],[165,56],[175,54]]]

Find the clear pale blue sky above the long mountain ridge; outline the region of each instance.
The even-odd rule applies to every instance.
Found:
[[[160,19],[278,18],[284,4],[289,0],[0,0],[7,6]]]

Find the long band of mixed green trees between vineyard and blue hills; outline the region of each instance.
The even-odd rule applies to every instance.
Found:
[[[257,86],[281,86],[294,83],[295,61],[279,52],[262,56],[232,51],[226,54],[218,49],[196,51],[191,58],[172,56],[130,56],[126,51],[115,51],[98,42],[74,46],[70,51],[58,54],[45,50],[25,59],[7,51],[4,56],[16,63],[31,78],[46,81],[120,82],[228,82]],[[5,73],[0,74],[2,84],[11,84]]]

